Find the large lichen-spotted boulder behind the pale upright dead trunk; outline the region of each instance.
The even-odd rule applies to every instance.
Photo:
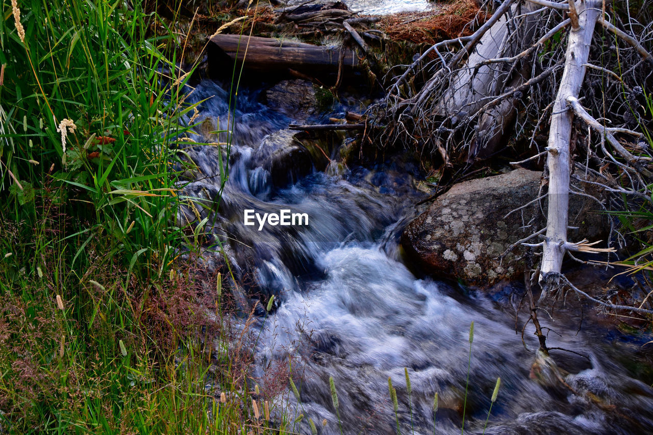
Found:
[[[544,228],[535,206],[517,210],[537,198],[540,178],[541,172],[517,169],[454,185],[407,225],[402,234],[404,249],[434,276],[459,278],[468,285],[490,287],[522,278],[524,250],[515,248],[503,259],[500,255]],[[569,203],[569,225],[580,227],[569,232],[569,240],[601,238],[607,218],[588,213],[597,204],[576,195]]]

